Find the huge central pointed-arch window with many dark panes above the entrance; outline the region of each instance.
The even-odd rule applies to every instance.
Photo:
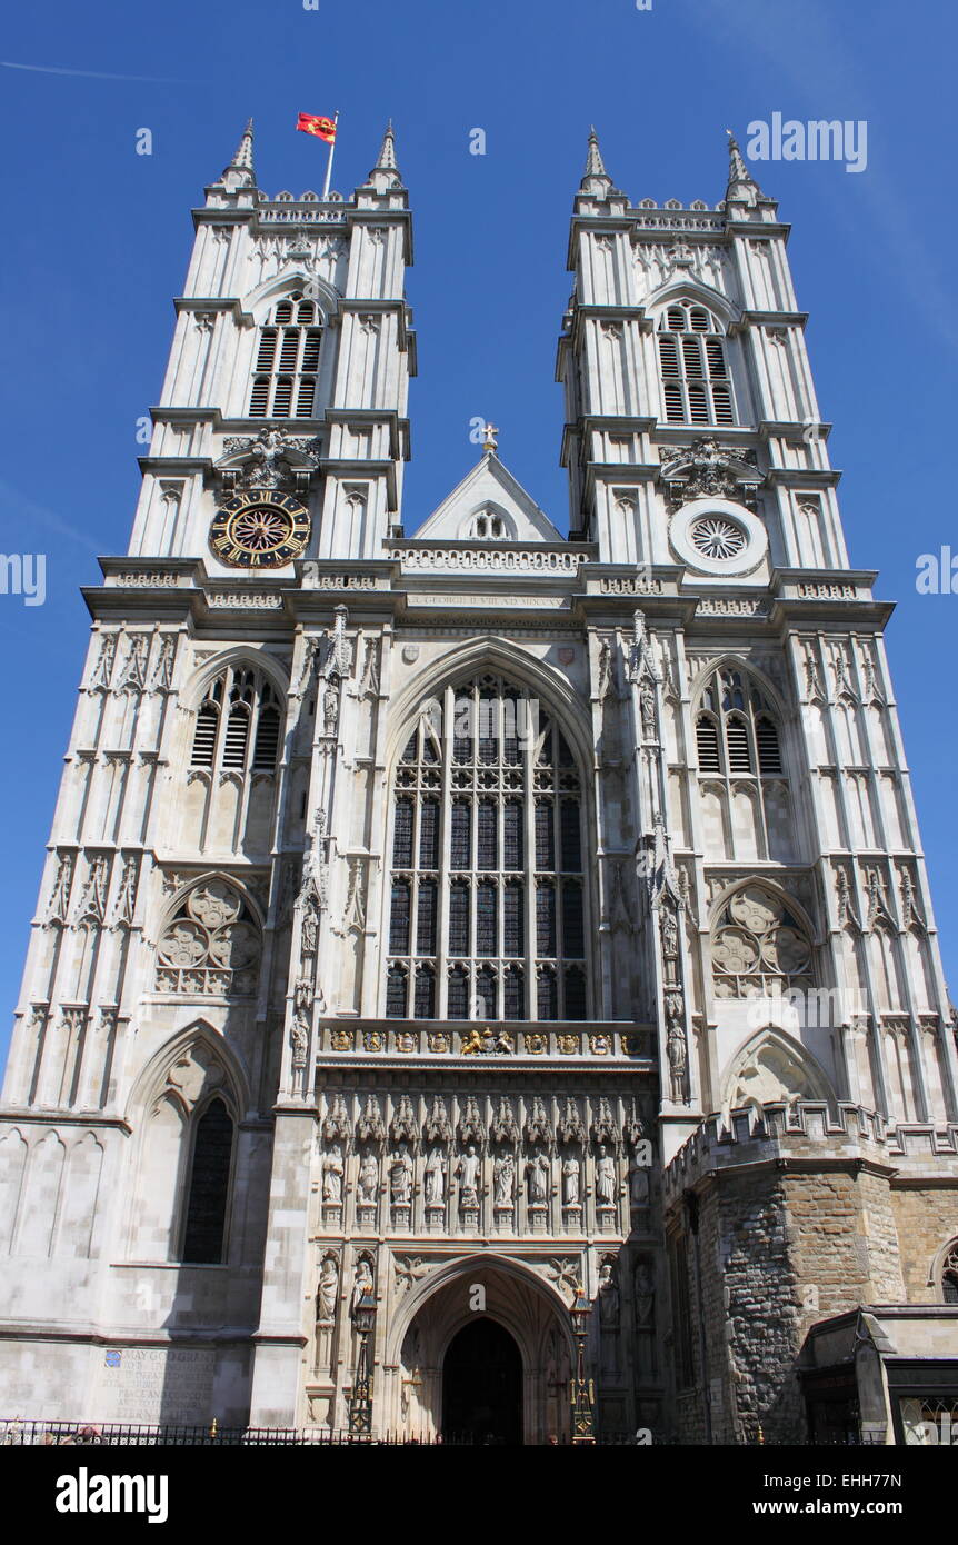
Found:
[[[522,689],[485,675],[426,705],[391,851],[389,1018],[586,1018],[581,779]]]

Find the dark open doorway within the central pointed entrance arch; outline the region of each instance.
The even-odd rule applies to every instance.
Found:
[[[442,1432],[447,1443],[522,1443],[522,1355],[488,1315],[464,1326],[447,1347]]]

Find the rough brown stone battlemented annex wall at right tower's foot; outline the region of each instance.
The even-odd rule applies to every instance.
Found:
[[[669,1227],[689,1250],[692,1355],[698,1411],[677,1401],[685,1441],[702,1441],[705,1397],[712,1441],[800,1441],[803,1401],[796,1360],[808,1329],[861,1302],[902,1302],[927,1278],[944,1238],[958,1233],[955,1191],[898,1191],[896,1153],[878,1140],[865,1112],[844,1109],[833,1125],[808,1108],[768,1109],[765,1131],[735,1119],[734,1132],[706,1122],[664,1177]],[[683,1197],[698,1197],[702,1296]],[[902,1217],[909,1230],[901,1233]],[[912,1234],[922,1239],[916,1251]],[[933,1247],[933,1248],[932,1248]],[[924,1251],[924,1253],[922,1253]],[[918,1295],[910,1290],[913,1299]],[[922,1289],[927,1298],[927,1287]],[[706,1369],[702,1370],[700,1324]]]

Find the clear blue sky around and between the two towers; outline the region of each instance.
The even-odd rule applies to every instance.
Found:
[[[888,649],[958,993],[950,885],[958,595],[918,595],[916,559],[953,542],[958,315],[952,121],[955,8],[944,0],[164,0],[19,6],[0,53],[5,243],[0,550],[48,555],[42,607],[0,595],[8,811],[0,1001],[12,1010],[62,771],[88,618],[80,584],[124,552],[136,420],[156,402],[192,241],[189,210],[247,116],[270,193],[321,188],[326,148],[297,111],[340,110],[334,187],[375,159],[385,121],[409,187],[419,331],[413,530],[476,459],[468,423],[561,528],[555,341],[589,124],[635,201],[725,192],[725,128],[865,119],[868,165],[756,167],[794,226],[790,255],[858,567],[898,601]],[[15,65],[49,71],[14,70]],[[82,74],[90,71],[91,74]],[[100,79],[138,76],[150,80]],[[470,154],[484,128],[487,154]],[[153,154],[136,154],[138,130]],[[947,454],[946,454],[947,453]],[[9,1023],[9,1018],[6,1020]],[[6,1026],[0,1024],[0,1037]]]

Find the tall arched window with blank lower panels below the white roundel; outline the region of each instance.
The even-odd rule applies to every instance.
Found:
[[[748,671],[723,666],[706,681],[695,751],[709,856],[790,857],[794,830],[779,715]]]

